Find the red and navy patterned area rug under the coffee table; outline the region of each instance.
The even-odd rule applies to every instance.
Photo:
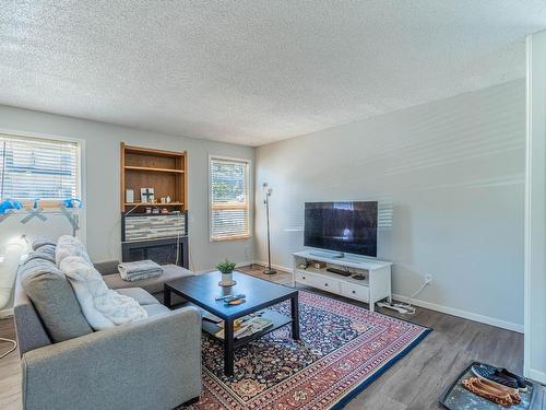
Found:
[[[290,315],[288,302],[274,308]],[[224,375],[221,343],[203,335],[204,391],[179,409],[339,409],[430,331],[304,291],[299,319],[299,342],[285,326],[236,350],[232,377]]]

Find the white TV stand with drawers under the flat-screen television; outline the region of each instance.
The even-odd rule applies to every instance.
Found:
[[[298,251],[292,256],[294,259],[293,285],[296,283],[305,284],[366,302],[369,304],[370,312],[375,311],[376,302],[385,297],[391,302],[391,262],[355,256],[328,257],[310,250]],[[337,268],[364,274],[365,279],[357,280],[328,272],[327,268],[317,269],[312,266],[307,269],[300,268],[300,265],[311,260],[325,262],[327,268]]]

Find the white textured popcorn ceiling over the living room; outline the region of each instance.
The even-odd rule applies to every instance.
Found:
[[[521,78],[543,27],[534,0],[2,0],[0,104],[260,145]]]

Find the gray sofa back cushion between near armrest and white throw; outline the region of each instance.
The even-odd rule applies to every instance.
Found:
[[[31,258],[20,269],[21,284],[54,342],[93,332],[72,286],[51,260]]]

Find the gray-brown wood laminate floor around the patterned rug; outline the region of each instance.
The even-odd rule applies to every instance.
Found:
[[[263,268],[258,266],[241,270],[276,283],[292,283],[292,276],[286,272],[266,276],[262,273]],[[351,303],[367,306],[358,302]],[[353,399],[345,407],[347,410],[440,409],[438,398],[473,360],[503,366],[517,373],[523,371],[521,333],[424,308],[418,308],[414,316],[384,309],[378,312],[431,327],[434,331]],[[15,337],[12,319],[0,320],[0,337]],[[7,343],[0,342],[0,352],[5,347]],[[536,402],[543,402],[542,390]],[[21,366],[19,353],[13,352],[0,360],[0,409],[21,408]],[[542,406],[537,405],[537,408]]]

